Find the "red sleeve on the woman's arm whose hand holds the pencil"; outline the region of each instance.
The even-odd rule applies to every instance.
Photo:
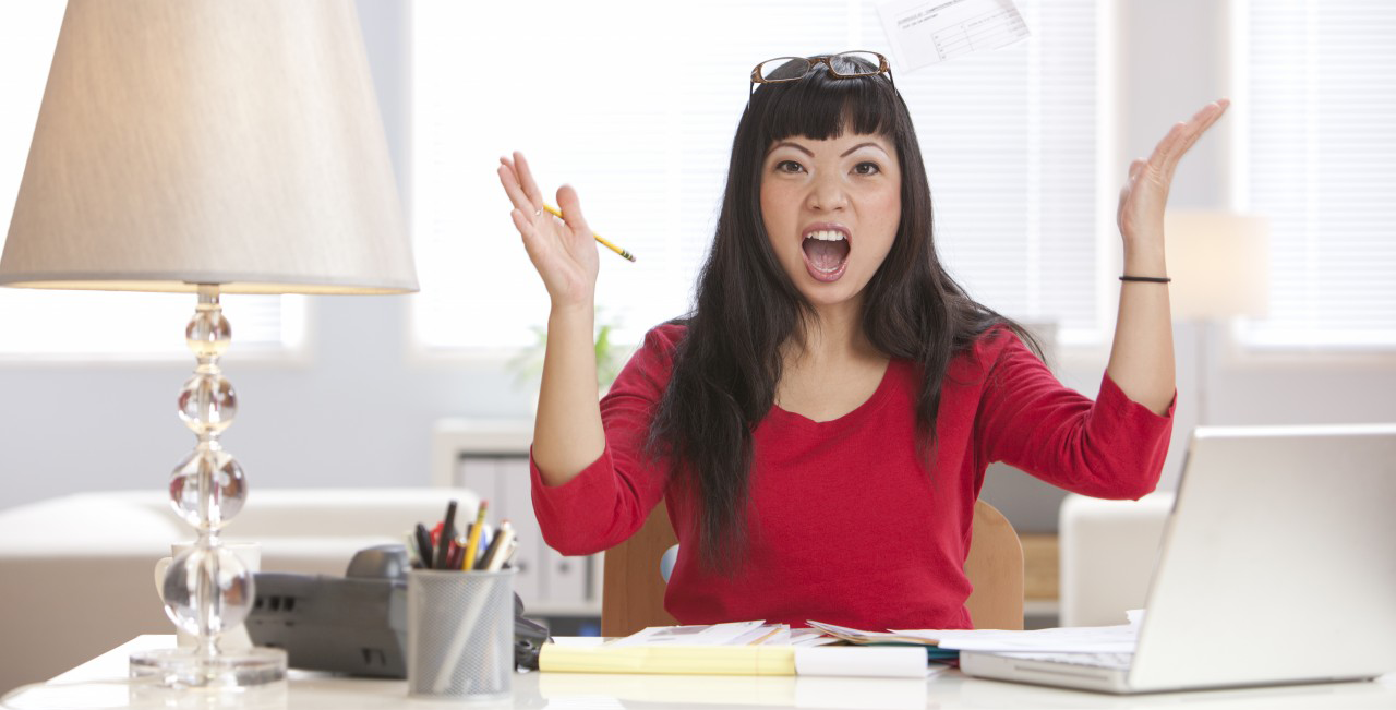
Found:
[[[669,384],[683,328],[662,325],[621,370],[602,399],[606,449],[563,485],[547,485],[529,452],[533,512],[543,540],[564,555],[589,555],[623,543],[663,497],[666,463],[652,462],[645,439]]]

